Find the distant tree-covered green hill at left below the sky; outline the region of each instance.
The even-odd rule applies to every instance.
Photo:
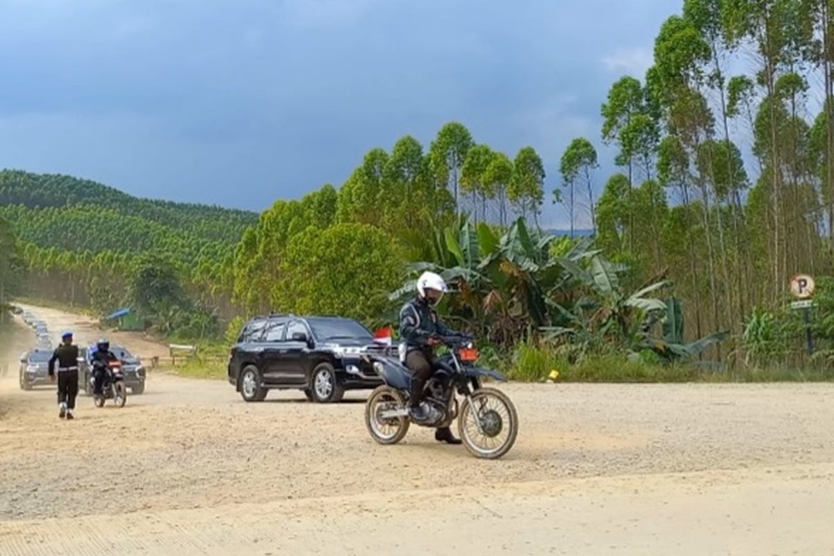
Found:
[[[135,198],[89,180],[17,170],[0,171],[0,210],[23,240],[93,251],[141,250],[159,245],[166,235],[176,237],[174,242],[193,238],[199,243],[233,244],[246,227],[258,222],[258,214],[248,211]],[[97,211],[102,222],[91,223],[85,232],[83,220],[96,219]],[[72,233],[63,233],[64,238],[47,235],[55,231],[58,220],[68,224],[61,229]],[[108,226],[103,226],[104,221]],[[128,242],[123,249],[113,245],[121,240]]]

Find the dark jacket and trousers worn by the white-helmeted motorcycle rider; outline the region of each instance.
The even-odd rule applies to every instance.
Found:
[[[423,398],[423,387],[432,373],[435,348],[429,339],[454,334],[437,316],[437,311],[423,298],[414,298],[399,310],[399,337],[405,342],[405,366],[411,369],[409,404],[416,407]]]

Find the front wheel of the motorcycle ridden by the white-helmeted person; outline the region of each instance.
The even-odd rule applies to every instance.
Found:
[[[518,436],[518,413],[505,393],[480,388],[461,405],[458,429],[466,449],[476,458],[500,458]]]

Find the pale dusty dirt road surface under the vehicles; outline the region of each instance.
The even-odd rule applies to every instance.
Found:
[[[63,422],[54,390],[19,390],[12,368],[3,556],[834,553],[827,383],[510,384],[518,442],[490,462],[420,428],[373,443],[366,393],[244,403],[228,383],[152,373],[125,408],[81,396]]]

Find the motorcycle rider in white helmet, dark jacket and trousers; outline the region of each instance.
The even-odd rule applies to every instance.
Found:
[[[405,303],[399,311],[399,336],[405,343],[405,366],[411,369],[409,413],[414,421],[428,418],[423,400],[423,388],[431,377],[435,363],[438,337],[455,334],[440,321],[435,305],[446,292],[446,283],[439,274],[426,272],[417,279],[417,297]],[[460,444],[449,427],[438,428],[435,439]]]

